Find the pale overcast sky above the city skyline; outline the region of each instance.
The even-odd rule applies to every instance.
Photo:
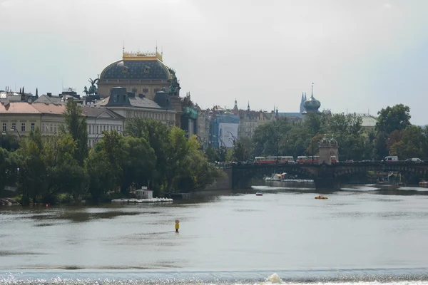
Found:
[[[163,50],[181,95],[298,112],[402,103],[428,124],[426,0],[0,0],[0,89],[83,93],[126,51]],[[16,86],[16,87],[15,87]]]

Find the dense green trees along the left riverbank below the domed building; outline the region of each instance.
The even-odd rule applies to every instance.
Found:
[[[36,128],[19,141],[2,136],[0,191],[16,185],[24,205],[58,199],[101,202],[127,197],[131,187],[148,186],[156,196],[200,190],[224,175],[208,162],[195,136],[187,138],[180,128],[131,118],[123,134],[103,132],[89,149],[81,107],[70,101],[63,115],[65,123],[56,135],[41,135]]]

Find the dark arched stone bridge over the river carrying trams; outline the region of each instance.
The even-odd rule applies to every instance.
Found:
[[[233,189],[251,187],[251,180],[256,175],[272,175],[272,173],[287,172],[299,175],[302,178],[312,179],[317,189],[340,189],[340,182],[347,175],[367,173],[368,171],[394,171],[403,175],[426,176],[428,174],[428,162],[352,162],[327,164],[287,164],[277,163],[271,165],[233,165],[232,186]]]

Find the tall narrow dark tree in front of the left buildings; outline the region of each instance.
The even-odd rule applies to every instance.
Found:
[[[80,165],[88,157],[88,125],[86,118],[82,115],[82,108],[75,100],[70,100],[66,104],[63,113],[65,125],[61,125],[62,133],[71,134],[71,138],[76,141],[76,151],[74,157]]]

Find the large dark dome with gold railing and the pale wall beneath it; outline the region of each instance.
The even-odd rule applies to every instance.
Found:
[[[104,68],[98,78],[98,94],[101,98],[110,95],[117,86],[127,92],[144,95],[153,100],[156,92],[165,91],[172,96],[180,95],[180,83],[175,71],[163,63],[163,53],[128,53],[123,49],[123,57]]]

